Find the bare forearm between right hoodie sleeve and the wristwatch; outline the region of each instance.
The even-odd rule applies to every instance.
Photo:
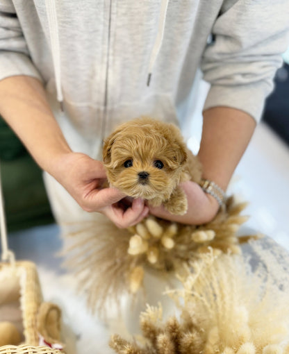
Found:
[[[229,107],[205,110],[198,154],[204,178],[226,190],[255,127],[254,119],[241,110]]]

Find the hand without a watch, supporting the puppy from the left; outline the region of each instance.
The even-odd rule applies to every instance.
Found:
[[[119,228],[138,224],[149,208],[142,199],[126,203],[119,189],[103,188],[106,171],[102,162],[83,153],[65,153],[53,162],[53,177],[87,212],[101,212]]]

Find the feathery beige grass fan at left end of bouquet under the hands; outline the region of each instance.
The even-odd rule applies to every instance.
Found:
[[[130,234],[101,214],[69,228],[72,246],[63,251],[63,267],[78,278],[78,291],[87,295],[90,310],[104,316],[110,305],[119,306],[122,294],[128,292],[129,274],[137,267],[127,253]]]

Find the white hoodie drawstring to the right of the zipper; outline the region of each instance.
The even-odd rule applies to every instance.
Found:
[[[149,86],[149,83],[151,81],[152,70],[153,70],[154,64],[156,62],[156,58],[158,58],[158,53],[160,51],[160,47],[162,46],[162,43],[163,43],[163,35],[165,32],[165,19],[167,17],[168,3],[169,3],[169,0],[162,0],[160,3],[160,17],[158,19],[158,33],[156,35],[154,47],[151,51],[151,56],[149,58],[149,74],[147,76],[147,86]]]

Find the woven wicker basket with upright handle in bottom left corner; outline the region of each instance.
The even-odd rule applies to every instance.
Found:
[[[0,322],[3,331],[0,333],[0,353],[63,353],[59,307],[43,302],[35,264],[15,262],[14,253],[8,248],[1,171],[0,231],[3,261],[0,262]]]

